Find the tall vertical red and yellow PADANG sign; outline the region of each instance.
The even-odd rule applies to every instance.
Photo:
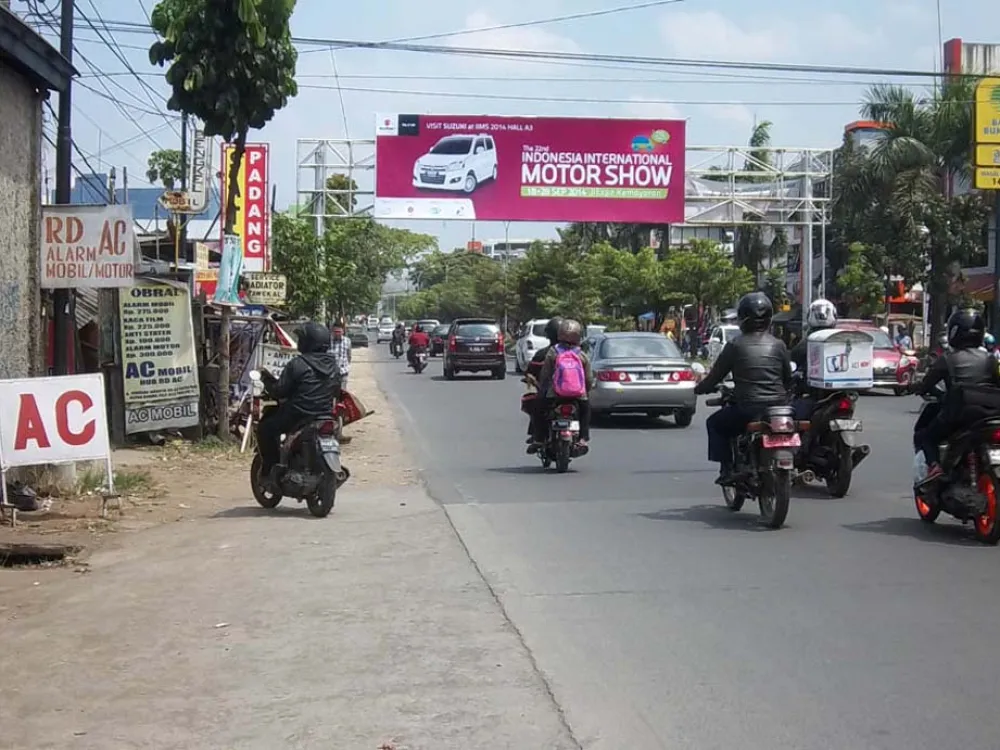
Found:
[[[225,242],[226,196],[229,184],[229,168],[236,155],[236,147],[225,144],[222,147],[222,240]],[[268,212],[270,175],[268,171],[268,148],[266,143],[248,143],[243,153],[243,162],[237,177],[236,219],[233,233],[243,241],[243,270],[267,271],[271,267],[268,252],[270,234],[270,214]]]

